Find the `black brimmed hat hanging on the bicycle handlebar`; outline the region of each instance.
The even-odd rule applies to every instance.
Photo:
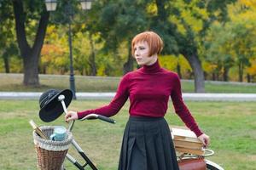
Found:
[[[39,117],[42,121],[52,122],[64,112],[61,101],[58,100],[61,94],[65,96],[64,102],[67,107],[73,99],[73,93],[70,89],[65,89],[61,92],[55,89],[49,89],[40,96]]]

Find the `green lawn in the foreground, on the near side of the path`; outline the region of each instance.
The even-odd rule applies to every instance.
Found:
[[[105,104],[108,101],[76,100],[68,109],[81,111]],[[66,126],[63,116],[55,122],[40,121],[36,100],[0,100],[0,105],[0,169],[36,169],[37,155],[29,120],[38,125]],[[226,170],[255,169],[256,105],[253,102],[187,102],[187,105],[203,131],[211,136],[210,149],[215,150],[215,155],[208,159],[218,162]],[[113,116],[117,121],[114,125],[98,120],[75,123],[74,139],[99,169],[117,169],[128,110],[126,104],[118,115]],[[166,120],[170,125],[183,125],[173,114],[171,103]],[[73,148],[69,153],[81,161]],[[65,164],[68,170],[76,169],[69,161]]]

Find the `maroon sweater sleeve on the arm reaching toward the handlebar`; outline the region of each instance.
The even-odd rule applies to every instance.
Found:
[[[119,112],[123,105],[125,105],[126,100],[129,97],[129,74],[126,74],[122,80],[119,82],[119,87],[117,92],[110,102],[109,105],[102,106],[95,110],[86,110],[86,111],[79,111],[78,116],[79,119],[87,116],[91,113],[95,113],[102,116],[113,116]]]

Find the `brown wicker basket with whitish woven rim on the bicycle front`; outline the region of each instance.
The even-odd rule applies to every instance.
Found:
[[[54,126],[39,127],[46,136],[54,132]],[[35,148],[38,153],[38,167],[41,170],[61,170],[61,166],[67,154],[69,144],[71,144],[72,133],[67,132],[67,137],[63,141],[53,141],[42,139],[38,133],[33,131]]]

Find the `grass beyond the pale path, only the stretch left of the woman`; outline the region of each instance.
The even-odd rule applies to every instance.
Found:
[[[43,92],[49,88],[69,88],[69,76],[40,75],[40,87],[24,87],[22,74],[0,74],[0,91]],[[115,91],[119,77],[75,77],[78,92]]]

